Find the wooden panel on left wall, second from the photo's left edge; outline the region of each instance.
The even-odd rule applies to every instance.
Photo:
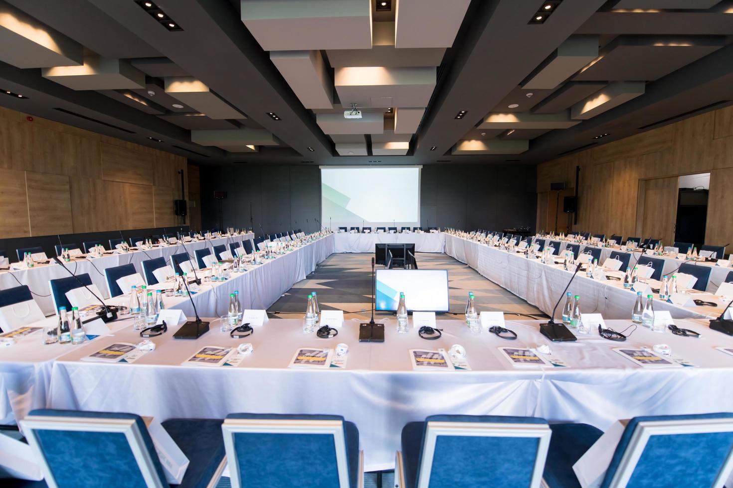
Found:
[[[31,236],[73,233],[69,177],[26,171]]]

